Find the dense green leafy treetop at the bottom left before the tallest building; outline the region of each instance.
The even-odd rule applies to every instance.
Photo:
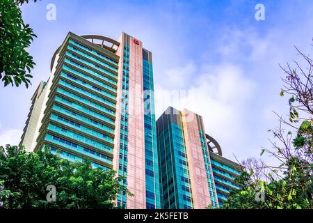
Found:
[[[49,149],[26,153],[24,147],[0,147],[2,208],[114,208],[118,192],[129,191],[115,171],[93,169],[90,161],[69,162]],[[47,201],[47,185],[56,187],[56,201]]]

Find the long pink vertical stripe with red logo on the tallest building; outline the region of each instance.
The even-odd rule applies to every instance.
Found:
[[[127,208],[145,209],[145,131],[143,114],[143,47],[129,38],[129,119],[127,187],[134,197],[127,197]]]

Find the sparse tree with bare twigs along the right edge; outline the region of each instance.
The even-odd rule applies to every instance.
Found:
[[[285,120],[276,114],[278,128],[269,130],[276,141],[261,153],[275,157],[280,165],[243,162],[245,169],[236,179],[241,190],[231,192],[223,208],[313,208],[313,61],[297,47],[296,51],[306,68],[297,61],[295,68],[289,63],[280,66],[286,75],[280,95],[289,96],[289,116]]]

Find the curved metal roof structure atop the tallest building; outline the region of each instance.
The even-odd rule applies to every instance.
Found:
[[[84,38],[86,40],[89,40],[91,43],[94,43],[95,45],[98,45],[99,47],[102,47],[104,49],[107,49],[113,53],[116,52],[116,49],[115,47],[118,47],[120,45],[120,43],[116,40],[113,40],[109,37],[106,37],[106,36],[98,36],[98,35],[83,35],[81,36],[81,38]],[[101,43],[95,43],[95,40],[102,40]],[[107,43],[111,43],[112,46],[109,47],[107,45],[104,45],[104,42],[107,42]],[[52,59],[51,59],[51,64],[50,64],[50,70],[52,71],[52,68],[54,67],[54,60],[56,59],[56,54],[58,54],[58,50],[61,48],[58,47],[58,49],[56,49],[56,52],[54,52],[54,56],[52,56]]]

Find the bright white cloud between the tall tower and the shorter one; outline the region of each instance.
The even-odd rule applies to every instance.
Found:
[[[157,85],[155,90],[157,117],[171,105],[177,109],[189,109],[203,117],[206,132],[216,138],[223,148],[226,157],[234,159],[234,148],[247,148],[250,134],[245,121],[245,103],[252,98],[257,86],[254,81],[243,76],[238,66],[223,64],[220,66],[202,66],[200,73],[191,73],[197,77],[194,84],[190,84],[188,93],[179,95],[179,100],[168,95],[175,95],[166,87]],[[172,73],[179,73],[184,68],[177,68]],[[184,79],[185,85],[189,84]],[[167,95],[167,96],[166,96]],[[238,154],[238,153],[237,153]],[[240,156],[241,157],[241,156]]]

